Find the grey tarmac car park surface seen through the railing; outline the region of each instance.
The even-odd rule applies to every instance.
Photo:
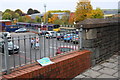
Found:
[[[77,44],[58,41],[56,38],[46,39],[44,36],[38,36],[34,33],[11,33],[14,39],[14,45],[18,45],[20,50],[18,54],[9,55],[9,66],[16,67],[22,66],[29,62],[34,62],[42,57],[56,56],[56,51],[60,46],[68,46],[78,49]],[[40,47],[38,49],[31,48],[31,38],[39,38]],[[4,55],[3,55],[3,68],[4,68]]]

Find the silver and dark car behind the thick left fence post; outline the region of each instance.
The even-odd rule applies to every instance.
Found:
[[[0,52],[4,53],[3,39],[0,39]],[[18,53],[19,52],[19,46],[13,45],[12,41],[8,41],[8,52],[9,52],[9,54]]]

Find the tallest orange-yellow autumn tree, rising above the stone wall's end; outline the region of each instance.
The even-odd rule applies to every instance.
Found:
[[[87,15],[91,13],[92,6],[89,0],[80,0],[77,3],[75,11],[75,20],[76,22],[82,21],[87,18]]]

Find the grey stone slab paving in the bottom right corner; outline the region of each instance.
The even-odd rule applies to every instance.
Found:
[[[118,55],[114,55],[110,59],[86,70],[82,74],[79,74],[73,80],[76,79],[89,80],[90,78],[102,78],[102,79],[109,78],[107,80],[111,80],[110,78],[112,78],[112,80],[120,80],[120,79],[115,79],[118,77],[120,78],[120,74],[118,74],[120,73],[119,72],[120,64],[118,65],[118,63],[120,63],[119,62],[120,60],[118,60],[118,58],[120,59],[120,56],[118,57]]]

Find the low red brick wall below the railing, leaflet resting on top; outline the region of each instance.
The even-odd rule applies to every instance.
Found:
[[[51,59],[53,62],[55,62],[54,64],[42,67],[38,63],[36,63],[34,66],[20,68],[13,71],[9,75],[3,75],[3,78],[10,80],[22,80],[24,78],[32,78],[34,80],[36,80],[37,78],[71,79],[84,72],[86,69],[90,68],[90,54],[91,52],[84,50],[75,51],[66,55],[59,55]]]

